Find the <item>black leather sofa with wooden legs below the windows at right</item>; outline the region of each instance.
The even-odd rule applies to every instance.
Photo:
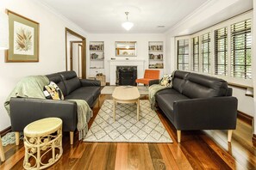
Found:
[[[175,71],[172,88],[156,94],[160,110],[181,131],[228,130],[228,142],[236,128],[237,99],[222,79],[185,71]]]

